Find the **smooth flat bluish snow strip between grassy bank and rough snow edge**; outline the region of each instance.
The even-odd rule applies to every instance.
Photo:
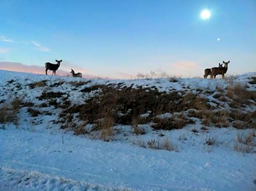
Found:
[[[36,171],[50,176],[48,179],[57,176],[108,189],[249,191],[256,188],[253,183],[256,156],[243,157],[227,149],[211,153],[190,149],[177,153],[120,142],[91,141],[70,134],[64,134],[62,145],[61,134],[22,129],[1,130],[0,145],[2,167]],[[0,171],[2,178],[8,171],[5,168]],[[17,175],[16,183],[20,179],[21,175]],[[8,181],[2,179],[0,186],[5,184]],[[15,186],[32,189],[33,184]]]

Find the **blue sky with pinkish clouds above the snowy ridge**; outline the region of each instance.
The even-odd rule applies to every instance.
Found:
[[[256,0],[0,0],[0,62],[56,59],[109,78],[255,72]]]

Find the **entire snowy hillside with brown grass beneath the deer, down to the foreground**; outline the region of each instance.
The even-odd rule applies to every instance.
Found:
[[[255,76],[0,70],[0,190],[256,190]]]

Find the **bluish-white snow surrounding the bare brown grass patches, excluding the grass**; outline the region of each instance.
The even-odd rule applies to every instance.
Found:
[[[256,76],[250,73],[238,76],[239,82],[248,82]],[[9,83],[8,81],[15,80]],[[48,86],[31,90],[28,84],[48,80]],[[184,89],[215,90],[228,86],[224,80],[181,79],[178,83],[168,79],[152,80],[92,80],[74,91],[70,82],[74,79],[0,70],[0,101],[10,102],[22,97],[35,105],[44,91],[68,92],[72,103],[83,103],[100,90],[82,93],[79,90],[94,84],[153,87],[160,92]],[[54,86],[57,82],[64,82]],[[8,84],[8,86],[6,85]],[[122,86],[120,88],[122,88]],[[255,86],[249,85],[249,90]],[[214,98],[212,98],[214,99]],[[58,98],[57,101],[62,101]],[[4,103],[2,103],[4,104]],[[253,111],[255,104],[247,109]],[[237,133],[250,129],[210,128],[201,131],[200,124],[190,124],[184,129],[152,131],[145,135],[129,134],[126,126],[117,126],[128,134],[126,139],[117,135],[116,141],[91,140],[86,136],[74,136],[59,129],[51,120],[58,118],[59,109],[42,108],[52,115],[31,117],[26,107],[19,111],[18,124],[0,124],[0,190],[170,190],[170,191],[240,191],[256,190],[256,154],[241,154],[232,149]],[[197,129],[198,133],[190,130]],[[159,134],[170,137],[178,152],[138,147],[131,142],[138,139],[160,139]],[[218,137],[214,146],[204,145],[208,135]],[[62,142],[63,136],[63,142]],[[64,144],[63,144],[64,143]],[[254,148],[255,149],[255,148]]]

